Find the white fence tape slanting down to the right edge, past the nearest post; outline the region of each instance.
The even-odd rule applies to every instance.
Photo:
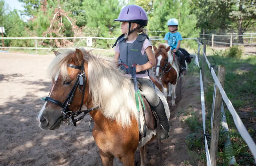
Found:
[[[207,59],[207,57],[206,57],[206,55],[204,53],[204,49],[202,47],[202,43],[200,43],[200,42],[198,42],[198,43],[199,43],[199,45],[202,48],[205,60],[206,60],[206,62],[208,64],[209,69],[211,70],[211,67],[210,67],[211,64],[209,63],[209,61],[208,61],[208,59]],[[256,159],[256,145],[255,145],[254,141],[252,140],[252,137],[250,136],[250,134],[248,133],[247,129],[245,128],[242,120],[238,116],[238,114],[237,114],[236,110],[234,109],[232,103],[228,99],[228,96],[225,93],[223,87],[221,86],[220,81],[217,78],[216,73],[214,72],[213,69],[211,70],[211,73],[212,73],[212,78],[213,78],[216,86],[220,89],[220,94],[222,95],[222,99],[226,103],[226,105],[228,107],[228,110],[229,110],[229,112],[231,113],[231,115],[233,117],[233,120],[234,120],[234,123],[236,125],[236,128],[237,128],[238,132],[241,134],[242,138],[244,139],[244,141],[246,142],[246,144],[250,148],[254,159]]]

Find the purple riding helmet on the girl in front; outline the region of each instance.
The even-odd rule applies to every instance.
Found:
[[[125,6],[120,12],[118,19],[114,21],[134,22],[144,27],[148,25],[148,15],[142,7],[132,4]]]

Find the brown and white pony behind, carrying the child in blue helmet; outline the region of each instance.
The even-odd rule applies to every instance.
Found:
[[[174,56],[175,54],[170,50],[171,46],[168,44],[160,44],[158,48],[153,46],[155,50],[156,57],[156,66],[152,68],[155,72],[157,79],[160,79],[164,86],[164,96],[167,99],[167,96],[172,96],[172,106],[175,106],[176,99],[176,85],[177,80],[183,75],[180,74],[180,62],[178,57]],[[173,61],[173,57],[174,61]],[[186,68],[188,67],[187,62]],[[167,86],[169,85],[169,94],[167,95]]]

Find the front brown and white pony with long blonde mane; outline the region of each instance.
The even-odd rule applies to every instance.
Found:
[[[80,106],[83,106],[82,109],[95,109],[89,112],[95,122],[92,135],[99,147],[104,166],[112,166],[114,156],[124,166],[133,166],[134,153],[140,141],[140,113],[136,108],[131,79],[123,75],[113,60],[93,56],[83,49],[54,53],[56,57],[48,67],[48,72],[52,76],[52,88],[48,96],[51,101],[45,98],[44,106],[36,118],[39,126],[44,130],[55,130],[60,127],[65,121],[61,114],[61,103],[65,103],[69,92],[76,85],[76,79],[84,75],[84,93],[80,91],[83,88],[79,90],[81,84],[78,83],[79,88],[74,91],[72,101],[66,105],[68,110],[76,113]],[[161,92],[158,90],[157,93]],[[169,111],[169,119],[170,110],[163,94],[161,99],[165,109]],[[69,120],[66,119],[66,122]],[[152,137],[149,142],[155,138],[156,136]],[[145,166],[149,163],[146,145],[139,150],[141,166]]]

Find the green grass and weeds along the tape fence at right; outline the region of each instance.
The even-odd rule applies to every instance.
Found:
[[[254,141],[256,140],[256,56],[245,55],[240,59],[229,58],[222,56],[221,51],[212,52],[213,56],[207,56],[210,64],[216,63],[225,65],[226,75],[224,90],[232,102],[234,108],[241,117],[248,132],[251,134]],[[206,104],[206,133],[211,133],[211,109],[214,81],[207,64],[205,64],[205,87],[204,92]],[[201,63],[200,63],[200,66]],[[218,71],[216,71],[217,74]],[[199,69],[194,65],[194,60],[189,65],[189,73],[195,77],[199,77]],[[191,85],[192,86],[192,85]],[[236,158],[237,165],[255,165],[253,156],[242,139],[239,132],[236,130],[233,118],[229,113],[224,103],[225,113],[227,117],[229,136],[232,141],[232,148],[224,149],[226,141],[225,132],[220,129],[219,144],[218,144],[218,159],[217,165],[226,166],[233,155]],[[191,162],[195,164],[201,163],[206,165],[204,136],[202,135],[202,122],[198,122],[198,117],[193,112],[188,113],[188,118],[183,121],[190,127],[191,133],[186,137],[188,152],[191,157]],[[227,134],[227,133],[226,133]],[[210,138],[208,139],[210,148]]]

